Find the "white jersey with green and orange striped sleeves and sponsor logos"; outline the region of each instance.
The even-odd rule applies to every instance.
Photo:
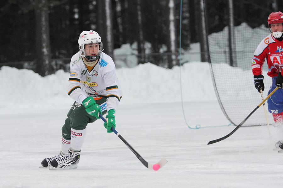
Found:
[[[90,96],[107,97],[107,112],[110,109],[116,111],[123,93],[114,61],[102,52],[97,64],[88,70],[80,54],[76,53],[71,59],[68,95],[79,103]]]

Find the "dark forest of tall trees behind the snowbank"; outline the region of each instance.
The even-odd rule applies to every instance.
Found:
[[[0,8],[0,66],[20,68],[31,62],[31,69],[47,76],[58,69],[52,62],[60,59],[69,64],[82,31],[95,30],[102,37],[103,52],[114,60],[114,49],[136,43],[138,63],[172,68],[178,63],[180,11],[185,51],[202,37],[202,3],[211,34],[229,25],[229,1],[5,0]],[[267,26],[269,13],[283,11],[281,0],[232,1],[232,5],[235,26],[243,22],[252,28]]]

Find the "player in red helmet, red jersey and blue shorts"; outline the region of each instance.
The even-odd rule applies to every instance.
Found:
[[[271,34],[259,43],[254,52],[252,73],[254,75],[254,85],[258,92],[260,90],[264,91],[262,66],[266,59],[269,69],[267,75],[272,77],[272,85],[268,94],[277,86],[280,88],[267,100],[268,111],[272,113],[274,122],[283,126],[283,13],[270,13],[267,23]],[[283,140],[278,141],[275,147],[278,151],[283,151]]]

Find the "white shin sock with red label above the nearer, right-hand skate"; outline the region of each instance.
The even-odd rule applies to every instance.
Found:
[[[86,138],[86,128],[75,130],[71,128],[71,148],[73,151],[80,151]]]

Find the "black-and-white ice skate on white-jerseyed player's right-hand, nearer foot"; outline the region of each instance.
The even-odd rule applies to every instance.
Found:
[[[69,149],[69,153],[55,158],[50,163],[49,170],[67,170],[78,168],[80,161],[80,152],[74,152]]]

